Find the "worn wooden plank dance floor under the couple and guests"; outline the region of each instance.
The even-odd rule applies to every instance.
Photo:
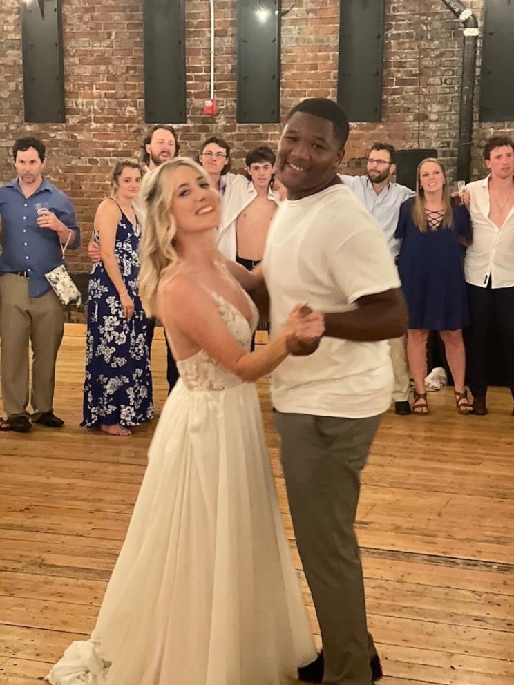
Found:
[[[158,409],[166,392],[164,352],[155,340]],[[2,685],[41,682],[69,642],[90,633],[144,473],[155,423],[124,439],[81,429],[83,376],[84,337],[66,335],[55,401],[66,428],[0,435]],[[259,392],[317,634],[287,515],[266,381]],[[363,474],[357,525],[370,627],[386,674],[381,683],[513,685],[510,396],[494,389],[484,418],[458,416],[448,389],[429,400],[426,418],[385,416]]]

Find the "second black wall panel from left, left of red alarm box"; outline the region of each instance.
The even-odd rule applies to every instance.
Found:
[[[185,0],[143,0],[144,119],[186,121]]]

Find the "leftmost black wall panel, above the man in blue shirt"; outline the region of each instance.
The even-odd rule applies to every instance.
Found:
[[[64,122],[61,0],[21,3],[25,121]]]

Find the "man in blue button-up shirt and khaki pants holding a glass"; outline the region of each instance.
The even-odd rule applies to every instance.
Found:
[[[26,432],[32,423],[63,425],[53,413],[53,394],[64,308],[45,273],[63,263],[61,246],[79,247],[80,231],[69,198],[42,176],[44,144],[20,138],[12,156],[17,178],[0,188],[1,383],[12,430]],[[32,414],[27,411],[29,338]]]

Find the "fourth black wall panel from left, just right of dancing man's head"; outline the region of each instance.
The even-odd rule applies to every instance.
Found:
[[[350,122],[379,122],[385,0],[341,0],[337,102]]]

